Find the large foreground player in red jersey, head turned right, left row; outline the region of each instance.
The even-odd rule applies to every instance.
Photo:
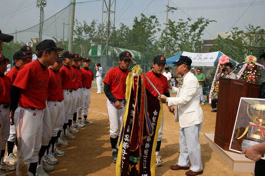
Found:
[[[36,175],[36,170],[42,169],[37,161],[48,92],[47,66],[54,65],[57,51],[62,50],[53,40],[37,44],[37,60],[19,69],[11,87],[11,119],[14,118],[18,140],[17,176]]]

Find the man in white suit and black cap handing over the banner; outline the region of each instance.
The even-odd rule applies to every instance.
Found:
[[[201,161],[201,147],[199,136],[203,120],[203,113],[200,106],[200,85],[197,78],[190,72],[192,60],[187,56],[180,56],[179,60],[173,62],[176,66],[176,73],[181,75],[179,88],[172,87],[172,93],[176,97],[158,97],[160,101],[168,102],[170,112],[175,111],[175,122],[179,121],[179,148],[180,155],[177,165],[171,166],[172,170],[188,170],[189,160],[191,168],[186,175],[194,176],[203,173]]]

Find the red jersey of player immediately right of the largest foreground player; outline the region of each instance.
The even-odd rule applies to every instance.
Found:
[[[64,94],[61,85],[61,75],[58,71],[49,70],[48,98],[47,101],[63,101]]]

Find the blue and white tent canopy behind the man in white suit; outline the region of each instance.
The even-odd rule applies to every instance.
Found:
[[[174,65],[172,62],[178,61],[180,56],[188,56],[192,60],[192,66],[214,66],[215,60],[219,59],[223,54],[221,51],[211,53],[190,53],[183,51],[178,55],[166,59],[166,64]]]

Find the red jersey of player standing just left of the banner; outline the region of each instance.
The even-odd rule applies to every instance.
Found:
[[[130,70],[126,70],[124,73],[119,67],[110,69],[104,79],[104,83],[109,85],[111,93],[116,99],[125,99],[126,92],[126,78]]]

